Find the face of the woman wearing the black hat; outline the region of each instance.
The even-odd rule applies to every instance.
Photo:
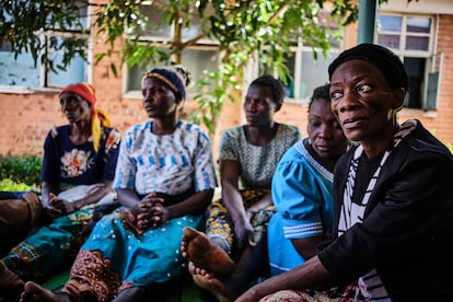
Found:
[[[364,60],[340,65],[330,79],[332,109],[355,141],[378,140],[392,129],[404,90],[392,90],[384,74]]]

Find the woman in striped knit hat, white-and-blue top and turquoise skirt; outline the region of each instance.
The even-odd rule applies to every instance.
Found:
[[[151,120],[132,126],[121,142],[114,188],[124,207],[97,222],[62,292],[28,282],[23,300],[131,300],[187,270],[179,252],[183,229],[204,229],[217,185],[209,137],[178,119],[187,81],[181,67],[143,76]]]

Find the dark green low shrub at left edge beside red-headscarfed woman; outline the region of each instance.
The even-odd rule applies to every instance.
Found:
[[[0,155],[0,181],[9,178],[18,184],[38,187],[42,166],[40,156]]]

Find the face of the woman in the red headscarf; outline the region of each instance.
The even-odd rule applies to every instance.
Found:
[[[65,92],[60,96],[61,112],[70,124],[91,120],[91,104],[76,93]]]

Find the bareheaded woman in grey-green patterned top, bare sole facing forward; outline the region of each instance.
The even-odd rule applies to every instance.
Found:
[[[262,242],[274,213],[274,171],[284,151],[301,137],[298,127],[274,120],[283,98],[278,80],[270,76],[255,79],[244,102],[246,124],[222,135],[221,199],[208,208],[206,234],[186,228],[182,241],[183,256],[190,260],[196,282],[207,274],[228,276],[235,263]]]

